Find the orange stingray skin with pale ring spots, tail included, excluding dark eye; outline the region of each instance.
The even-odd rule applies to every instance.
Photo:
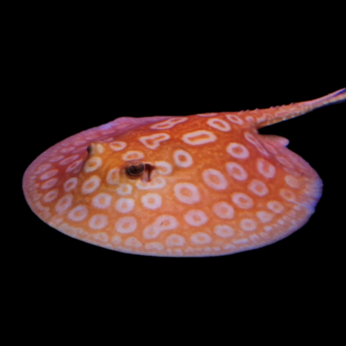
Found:
[[[304,225],[318,174],[257,128],[344,101],[186,117],[119,118],[49,148],[24,174],[30,208],[98,246],[155,256],[216,256],[276,242]],[[127,168],[143,164],[139,176]]]

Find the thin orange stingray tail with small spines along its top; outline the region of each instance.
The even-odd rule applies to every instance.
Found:
[[[304,102],[291,103],[289,105],[271,107],[258,110],[256,114],[257,128],[274,124],[275,122],[298,117],[311,112],[314,109],[328,106],[332,103],[346,101],[346,88],[337,90],[318,99]]]

